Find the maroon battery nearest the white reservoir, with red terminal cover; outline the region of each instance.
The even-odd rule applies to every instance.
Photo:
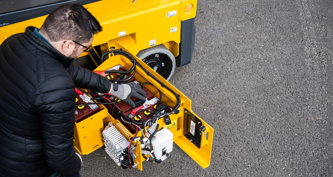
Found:
[[[154,97],[153,99],[147,100],[147,101],[144,103],[144,107],[143,107],[142,109],[147,109],[147,110],[149,110],[149,111],[151,111],[151,112],[155,112],[155,108],[154,108],[154,107],[155,107],[155,105],[157,105],[158,102],[159,102],[159,99],[158,99],[157,97]],[[163,103],[163,102],[161,101],[161,103]],[[127,111],[127,112],[125,112],[125,115],[126,115],[126,116],[129,116],[129,115],[131,114],[131,112],[132,112],[132,109],[129,110],[129,111]],[[148,112],[146,112],[146,111],[140,111],[140,112],[138,113],[138,116],[140,116],[141,119],[144,120],[144,121],[146,122],[146,121],[150,120],[150,119],[154,116],[154,114],[153,114],[153,113],[148,113]],[[135,122],[141,122],[141,121],[135,120],[135,117],[130,118],[130,119],[134,120]],[[133,124],[125,124],[125,126],[126,126],[126,128],[127,128],[132,134],[134,134],[134,133],[136,132],[136,130],[137,130],[136,126],[133,125]],[[138,126],[139,126],[141,129],[144,128],[143,125],[138,125]]]

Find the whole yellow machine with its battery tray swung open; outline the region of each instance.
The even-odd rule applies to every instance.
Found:
[[[141,131],[137,129],[133,132],[135,129],[128,124],[140,122],[137,118],[139,115],[135,115],[133,110],[130,112],[135,117],[131,121],[130,116],[121,110],[122,107],[118,107],[118,103],[113,103],[110,109],[107,107],[110,103],[91,103],[89,100],[86,103],[96,104],[99,111],[75,124],[74,146],[81,154],[89,154],[105,145],[106,152],[118,165],[124,169],[131,165],[130,168],[138,167],[142,170],[142,162],[145,160],[161,163],[171,152],[172,142],[175,142],[201,167],[209,166],[213,128],[196,116],[191,110],[191,101],[167,82],[175,66],[190,63],[194,49],[196,0],[30,1],[35,4],[30,3],[29,8],[23,8],[27,6],[24,6],[26,1],[22,0],[16,1],[21,5],[19,7],[11,3],[8,6],[12,5],[11,8],[0,8],[0,43],[13,34],[24,32],[27,26],[40,28],[47,14],[59,5],[79,2],[88,8],[103,27],[103,31],[94,37],[94,52],[83,53],[81,56],[88,54],[92,58],[98,66],[95,71],[106,74],[111,68],[109,75],[106,74],[109,79],[112,79],[112,71],[119,70],[119,67],[115,68],[118,65],[124,69],[122,72],[132,72],[131,68],[135,68],[132,72],[135,82],[151,84],[145,87],[154,94],[154,99],[160,100],[158,104],[155,103],[156,106],[166,105],[169,108],[157,113],[159,108],[154,107],[158,116],[152,114],[155,119],[153,116],[143,121],[148,122],[147,126],[142,125],[142,129],[139,127]],[[131,72],[125,73],[125,76],[131,77]],[[82,98],[90,93],[87,90],[84,92],[87,94],[80,95]],[[152,100],[146,100],[142,106],[148,106]],[[120,109],[118,116],[113,115],[117,107]],[[164,129],[155,130],[156,125]],[[150,130],[153,129],[152,133]],[[168,137],[171,137],[171,145],[167,144]]]

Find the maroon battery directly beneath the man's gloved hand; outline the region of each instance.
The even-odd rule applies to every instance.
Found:
[[[140,84],[137,80],[134,80],[134,82],[137,83],[137,84]],[[147,87],[145,87],[145,86],[142,85],[141,88],[142,88],[142,90],[144,90],[144,91],[146,92],[146,98],[147,98],[148,100],[149,100],[149,99],[152,99],[152,98],[154,97],[154,93],[151,92],[150,90],[148,90]],[[108,96],[106,96],[106,98],[108,98],[108,99],[112,98],[112,99],[110,99],[110,100],[115,101],[115,97],[113,97],[113,96],[109,96],[109,95],[108,95]],[[138,101],[139,101],[139,99],[136,98],[136,97],[131,97],[131,100],[134,101],[134,102],[138,102]],[[111,104],[106,104],[106,105],[104,105],[104,106],[108,109],[109,114],[112,115],[113,105],[111,105]],[[122,110],[122,112],[124,112],[124,113],[126,113],[127,111],[133,109],[132,106],[130,106],[129,104],[125,103],[124,101],[119,102],[119,103],[117,104],[117,106],[118,106],[118,107]],[[115,114],[114,114],[114,115],[115,115]]]

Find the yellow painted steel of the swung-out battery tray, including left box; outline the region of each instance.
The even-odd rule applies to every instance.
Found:
[[[121,46],[125,51],[131,53],[126,47],[122,46],[121,44],[118,44],[118,45]],[[131,54],[133,55],[133,53],[131,53]],[[148,65],[146,65],[143,61],[141,61],[135,55],[133,55],[133,56],[145,69],[147,69],[149,72],[153,73],[154,76],[157,77],[163,83],[165,83],[167,87],[171,88],[175,93],[180,95],[181,104],[180,104],[179,108],[181,111],[178,114],[170,115],[171,122],[173,122],[173,121],[176,122],[176,126],[174,126],[170,129],[170,131],[173,133],[173,141],[180,148],[182,148],[190,157],[192,157],[194,159],[194,161],[196,161],[201,167],[203,167],[203,168],[208,167],[210,164],[210,156],[211,156],[211,149],[212,149],[212,140],[213,140],[213,132],[214,132],[213,128],[210,127],[206,122],[204,122],[202,119],[199,118],[199,120],[202,121],[202,125],[206,126],[205,133],[209,132],[208,139],[206,140],[206,137],[204,137],[204,136],[201,137],[201,147],[200,148],[197,148],[190,140],[188,140],[183,135],[184,109],[186,108],[194,116],[196,116],[191,111],[191,100],[189,100],[184,94],[182,94],[179,90],[177,90],[174,86],[172,86],[169,82],[167,82],[163,77],[161,77],[158,73],[156,73],[152,68],[150,68]],[[116,56],[110,57],[105,62],[103,62],[99,67],[96,68],[96,71],[106,70],[106,69],[109,69],[110,67],[118,65],[118,64],[122,65],[126,69],[130,69],[133,65],[132,62],[129,59],[127,59],[126,57],[124,57],[122,55],[116,55]],[[154,80],[150,76],[147,76],[147,74],[138,66],[137,66],[137,71],[135,73],[135,78],[140,83],[149,82],[149,83],[154,84],[162,92],[162,101],[164,103],[166,103],[167,105],[170,105],[171,107],[173,107],[175,105],[175,103],[176,103],[175,96],[166,88],[161,87],[161,85],[156,80]],[[149,90],[151,90],[155,94],[155,96],[157,96],[157,97],[159,96],[159,93],[158,93],[157,89],[155,89],[155,87],[150,86],[150,85],[146,85],[146,87]],[[104,109],[100,112],[103,112],[103,111],[104,111]],[[100,112],[97,114],[100,114]],[[101,113],[101,114],[103,114],[103,116],[101,116],[100,118],[98,118],[97,114],[93,115],[92,117],[97,117],[96,119],[98,119],[98,122],[96,122],[96,126],[98,124],[99,127],[97,126],[97,127],[92,128],[94,130],[89,130],[86,132],[86,134],[78,134],[79,132],[76,132],[77,136],[75,136],[75,138],[76,137],[78,139],[81,138],[82,142],[79,143],[80,148],[78,147],[78,144],[77,145],[75,143],[74,144],[75,144],[76,149],[78,149],[78,151],[82,154],[88,154],[101,146],[101,144],[102,144],[101,143],[101,139],[102,139],[101,134],[104,129],[103,122],[104,122],[104,125],[107,125],[108,122],[112,122],[114,125],[118,125],[118,126],[116,126],[116,128],[118,128],[118,130],[120,132],[122,132],[123,135],[125,137],[127,137],[128,139],[130,139],[130,137],[133,136],[133,134],[129,133],[129,131],[126,128],[124,128],[123,126],[121,126],[121,123],[118,120],[115,120],[109,113],[107,113],[107,112]],[[196,117],[198,118],[198,116],[196,116]],[[95,126],[95,124],[92,122],[92,120],[94,120],[94,119],[87,118],[86,120],[76,124],[75,130],[82,131],[83,129],[86,129],[89,126]],[[90,123],[90,122],[92,122],[92,123]],[[165,126],[164,119],[159,119],[158,123],[160,124],[160,127]],[[142,133],[139,131],[137,136],[138,137],[142,136]],[[92,137],[93,139],[90,139],[90,137]],[[85,138],[87,138],[87,139],[85,139]],[[98,142],[95,143],[94,141],[97,141],[97,140],[98,140]],[[76,139],[75,139],[75,141],[76,141]],[[140,144],[140,142],[138,141],[138,142],[133,142],[133,145],[136,143]],[[83,149],[85,147],[88,147],[85,152],[80,151],[80,149]],[[137,147],[140,147],[140,146],[137,146]],[[141,148],[137,148],[134,153],[137,156],[137,158],[135,159],[135,162],[138,164],[138,168],[140,170],[142,170],[142,162],[145,159],[141,155]]]

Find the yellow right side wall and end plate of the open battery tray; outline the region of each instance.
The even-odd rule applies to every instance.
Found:
[[[124,47],[122,44],[118,44],[119,47],[123,48],[123,50],[128,51],[131,53],[127,47]],[[131,53],[133,55],[133,53]],[[208,133],[208,139],[206,137],[201,136],[201,147],[196,147],[190,140],[188,140],[183,135],[183,122],[184,122],[184,108],[191,111],[191,101],[182,94],[179,90],[177,90],[174,86],[172,86],[169,82],[167,82],[163,77],[158,75],[152,68],[150,68],[148,65],[146,65],[143,61],[139,60],[135,55],[133,55],[137,62],[139,62],[145,69],[147,69],[149,72],[154,73],[154,76],[157,77],[159,80],[161,80],[167,87],[171,88],[175,93],[180,95],[181,99],[181,105],[179,109],[181,110],[180,113],[176,115],[170,115],[171,122],[175,121],[176,126],[170,128],[170,131],[173,133],[173,141],[182,148],[191,158],[193,158],[194,161],[196,161],[201,167],[206,168],[210,164],[210,157],[211,157],[211,149],[212,149],[212,140],[213,140],[213,128],[210,127],[206,122],[204,122],[202,119],[198,118],[200,121],[202,121],[202,125],[206,126],[205,133]],[[107,59],[105,62],[103,62],[99,67],[96,68],[96,71],[100,70],[106,70],[109,69],[112,66],[115,66],[117,64],[121,64],[126,69],[130,69],[132,67],[132,62],[129,61],[124,56],[116,55],[112,56],[109,59]],[[136,80],[138,80],[140,83],[150,82],[154,84],[156,87],[158,87],[162,92],[162,101],[169,105],[170,107],[173,107],[176,103],[175,96],[168,91],[166,88],[161,87],[161,85],[152,79],[151,77],[147,76],[147,74],[139,67],[137,67],[137,71],[135,74]],[[147,85],[147,87],[149,87]],[[151,89],[151,88],[149,88]],[[153,91],[153,90],[152,90]],[[153,91],[154,94],[158,95],[157,91]],[[160,127],[165,126],[164,119],[159,119],[158,123],[160,124]],[[141,132],[138,133],[138,136],[141,136]],[[145,159],[140,156],[141,162],[143,162]],[[139,160],[139,159],[136,159]]]

